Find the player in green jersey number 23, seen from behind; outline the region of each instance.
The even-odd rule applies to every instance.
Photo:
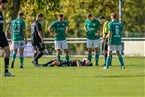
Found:
[[[12,49],[13,49],[13,55],[12,55],[12,64],[11,68],[14,68],[14,61],[17,55],[17,51],[19,49],[19,55],[20,55],[20,68],[23,68],[23,62],[24,62],[24,48],[25,44],[27,43],[26,38],[26,26],[25,21],[23,20],[24,13],[20,11],[18,13],[18,17],[14,19],[11,23],[11,31],[12,31]]]

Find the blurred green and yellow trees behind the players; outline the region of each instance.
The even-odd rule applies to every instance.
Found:
[[[123,37],[145,37],[145,0],[122,0],[124,34]],[[57,14],[63,13],[69,22],[70,31],[67,37],[85,37],[84,22],[86,15],[92,13],[96,18],[104,15],[110,20],[110,13],[119,13],[119,0],[8,0],[5,13],[6,22],[16,18],[19,10],[25,12],[27,36],[30,37],[30,24],[38,12],[45,15],[42,22],[44,37],[52,38],[47,28],[57,20]],[[7,25],[7,24],[6,24]],[[81,54],[85,45],[70,44],[70,49]],[[75,52],[72,52],[75,53]]]

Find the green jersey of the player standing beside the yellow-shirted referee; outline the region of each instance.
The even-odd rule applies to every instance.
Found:
[[[100,36],[96,36],[96,32],[100,29],[101,26],[102,25],[98,19],[94,19],[93,21],[86,19],[85,28],[88,31],[87,39],[90,39],[90,40],[100,39]]]

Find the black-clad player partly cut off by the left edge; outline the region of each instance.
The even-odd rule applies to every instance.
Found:
[[[8,71],[9,68],[9,57],[10,57],[10,49],[9,44],[6,39],[5,33],[3,32],[3,14],[2,10],[6,9],[7,0],[0,0],[0,47],[5,51],[5,57],[4,57],[4,63],[5,63],[5,70],[4,70],[4,76],[14,77],[13,74],[11,74]]]

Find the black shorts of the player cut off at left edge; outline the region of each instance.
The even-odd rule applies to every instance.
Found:
[[[4,48],[6,46],[9,46],[9,43],[7,41],[7,38],[5,36],[5,33],[0,32],[0,47]]]

